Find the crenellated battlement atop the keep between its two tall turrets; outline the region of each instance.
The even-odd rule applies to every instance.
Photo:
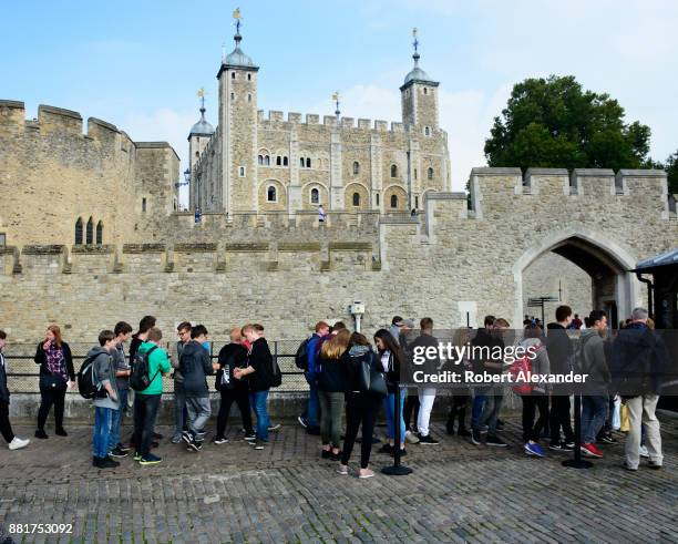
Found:
[[[337,117],[336,115],[323,115],[322,122],[320,122],[320,115],[315,113],[307,113],[302,115],[297,112],[289,112],[287,119],[285,113],[278,110],[270,110],[265,112],[259,110],[257,112],[257,122],[263,125],[264,129],[268,126],[275,126],[277,129],[291,130],[295,125],[314,127],[316,130],[328,130],[333,131],[339,129],[340,131],[353,131],[363,133],[404,133],[409,129],[405,129],[404,124],[399,121],[381,121],[370,119],[358,119],[355,117]]]

